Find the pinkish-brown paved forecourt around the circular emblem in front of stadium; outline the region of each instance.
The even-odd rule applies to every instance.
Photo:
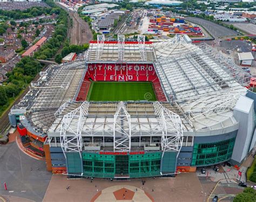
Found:
[[[43,201],[89,202],[98,192],[115,185],[138,187],[138,189],[149,193],[157,202],[204,201],[203,188],[196,173],[181,173],[176,178],[145,178],[145,180],[145,185],[142,185],[141,179],[113,182],[107,179],[94,179],[91,183],[89,179],[75,180],[66,179],[66,176],[63,175],[53,175]],[[68,185],[70,185],[70,189],[66,190]]]

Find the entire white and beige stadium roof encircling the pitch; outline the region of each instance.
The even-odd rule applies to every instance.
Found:
[[[98,41],[90,43],[85,62],[114,61],[153,63],[169,101],[161,103],[159,108],[179,115],[185,131],[222,129],[237,124],[232,110],[239,97],[245,95],[251,76],[213,47],[189,44],[180,36],[156,44],[147,43],[143,38],[125,41],[119,36],[118,41],[105,41],[98,36]],[[104,129],[104,134],[108,134],[118,103],[71,101],[76,99],[86,70],[84,61],[48,68],[37,82],[32,83],[31,90],[16,108],[26,109],[26,119],[44,130],[51,127],[51,133],[59,131],[64,115],[76,109],[73,111],[76,121],[75,113],[82,110],[86,116],[84,126],[80,127],[82,133],[89,134],[90,130],[91,135],[103,135]],[[142,135],[144,129],[155,132],[159,129],[156,103],[122,104],[131,116],[134,134]]]

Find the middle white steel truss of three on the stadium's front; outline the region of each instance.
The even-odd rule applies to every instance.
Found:
[[[119,102],[114,115],[114,151],[131,150],[131,116],[127,112],[124,102]]]

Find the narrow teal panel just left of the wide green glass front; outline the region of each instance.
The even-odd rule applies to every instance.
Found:
[[[66,152],[66,162],[69,174],[81,175],[83,171],[79,152]]]

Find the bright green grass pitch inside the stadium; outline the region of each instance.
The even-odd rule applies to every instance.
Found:
[[[87,101],[156,101],[151,82],[92,82]]]

